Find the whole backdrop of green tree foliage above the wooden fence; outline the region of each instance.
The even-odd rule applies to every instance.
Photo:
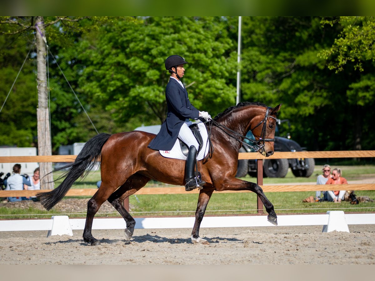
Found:
[[[87,115],[107,133],[162,123],[171,54],[189,62],[183,83],[193,105],[211,116],[234,105],[239,68],[241,100],[283,103],[279,118],[290,120],[292,139],[308,150],[375,148],[374,17],[243,17],[239,66],[238,17],[44,22],[55,57],[48,52],[55,152],[96,134]],[[0,17],[1,104],[32,49],[0,113],[0,145],[37,143],[34,24],[34,17]]]

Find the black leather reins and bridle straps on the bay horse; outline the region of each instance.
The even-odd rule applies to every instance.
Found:
[[[250,129],[251,131],[254,130],[255,128],[259,127],[260,124],[263,123],[263,128],[262,128],[262,132],[261,132],[261,136],[259,137],[259,141],[255,141],[254,139],[250,139],[246,136],[243,136],[239,133],[237,133],[236,131],[233,131],[232,129],[229,129],[228,127],[225,127],[224,125],[220,124],[220,123],[217,123],[216,121],[214,121],[213,119],[209,118],[208,120],[210,121],[209,124],[208,124],[208,128],[209,128],[209,133],[208,133],[208,143],[209,143],[209,147],[208,147],[208,155],[212,155],[213,153],[213,146],[211,144],[211,126],[212,124],[214,124],[217,128],[219,128],[220,130],[222,130],[224,133],[226,133],[228,136],[230,136],[231,138],[235,139],[236,141],[239,141],[243,144],[246,144],[247,146],[250,146],[251,148],[253,148],[255,151],[258,151],[259,149],[263,148],[264,145],[265,145],[265,142],[274,142],[275,139],[266,139],[266,124],[267,124],[267,118],[270,117],[270,118],[273,118],[275,120],[277,120],[275,117],[272,117],[270,115],[268,115],[270,111],[270,107],[267,107],[267,110],[266,110],[266,114],[264,116],[264,119],[262,121],[260,121],[258,123],[257,126],[255,126],[253,129]],[[229,132],[233,133],[234,135],[240,137],[240,138],[243,138],[243,139],[247,139],[253,143],[255,143],[256,146],[252,146],[246,142],[243,142],[242,140],[240,140],[239,138],[237,138],[236,136],[234,135],[231,135],[230,133],[228,133],[226,130],[228,130]],[[207,158],[210,157],[207,155]],[[207,159],[206,157],[204,159]],[[211,158],[211,157],[210,157]]]

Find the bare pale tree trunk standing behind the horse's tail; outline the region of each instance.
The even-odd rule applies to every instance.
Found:
[[[52,155],[51,131],[49,128],[49,109],[47,99],[47,70],[46,70],[46,45],[43,40],[44,22],[43,17],[36,18],[36,48],[37,48],[37,85],[38,85],[38,155]],[[40,31],[40,32],[39,32]],[[42,33],[42,34],[40,34]],[[53,176],[51,162],[40,162],[40,189],[53,189]]]

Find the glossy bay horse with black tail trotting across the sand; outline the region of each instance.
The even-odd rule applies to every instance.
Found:
[[[273,205],[264,195],[262,188],[254,182],[237,179],[235,175],[241,142],[249,130],[252,130],[255,136],[258,152],[264,156],[273,154],[276,112],[280,107],[281,104],[270,108],[262,103],[239,103],[206,123],[206,126],[210,127],[210,140],[214,151],[210,157],[198,162],[198,170],[206,184],[199,191],[195,223],[191,234],[191,241],[194,244],[209,244],[207,240],[199,237],[199,227],[214,190],[255,192],[268,212],[268,221],[277,225]],[[217,126],[218,124],[224,129]],[[237,133],[237,138],[233,137],[233,133]],[[141,131],[96,135],[84,145],[75,161],[65,166],[70,169],[60,176],[60,178],[65,177],[63,182],[52,191],[38,193],[37,197],[47,210],[51,209],[65,196],[81,175],[87,176],[90,168],[95,165],[95,161],[101,161],[102,183],[87,203],[83,240],[91,245],[100,244],[92,236],[92,224],[96,212],[108,200],[124,218],[126,222],[124,235],[129,241],[134,232],[135,220],[121,202],[144,187],[150,179],[166,184],[185,185],[183,172],[185,161],[164,158],[159,151],[147,148],[148,143],[154,137],[154,134]]]

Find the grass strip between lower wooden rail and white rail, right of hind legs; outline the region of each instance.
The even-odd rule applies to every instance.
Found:
[[[274,205],[276,213],[279,214],[325,213],[329,210],[345,212],[375,211],[375,202],[360,203],[359,205],[351,205],[348,202],[340,204],[333,202],[303,203],[302,200],[310,195],[315,196],[315,191],[266,193],[267,198]],[[374,190],[356,191],[356,195],[365,195],[375,199]],[[129,203],[132,206],[133,215],[194,215],[197,199],[197,194],[138,195],[136,197],[130,196]],[[257,197],[254,193],[214,192],[206,211],[206,215],[256,213]]]

